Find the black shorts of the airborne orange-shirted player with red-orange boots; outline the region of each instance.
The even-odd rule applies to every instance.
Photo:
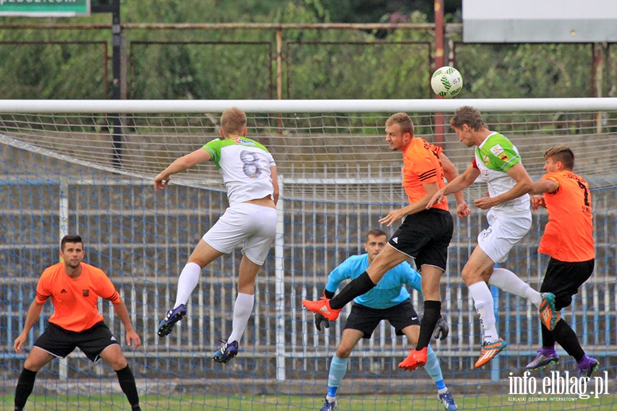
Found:
[[[413,257],[418,271],[424,264],[446,271],[452,232],[454,221],[450,212],[431,208],[405,217],[388,244]]]

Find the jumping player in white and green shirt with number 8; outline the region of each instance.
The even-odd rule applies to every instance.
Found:
[[[167,336],[186,315],[186,303],[199,282],[202,269],[243,243],[238,295],[234,303],[232,332],[212,358],[228,362],[238,353],[239,342],[255,301],[255,277],[268,255],[276,232],[278,182],[276,163],[259,142],[246,137],[246,114],[237,108],[221,115],[221,138],[172,162],[154,178],[154,190],[162,190],[171,175],[197,164],[212,161],[221,170],[229,208],[199,241],[180,278],[176,303],[158,327]]]

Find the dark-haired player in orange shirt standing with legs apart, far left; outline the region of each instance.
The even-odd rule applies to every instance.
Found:
[[[13,345],[20,353],[28,333],[40,316],[45,301],[51,297],[53,314],[25,360],[15,390],[14,410],[21,411],[34,388],[36,373],[53,358],[64,358],[78,347],[92,362],[103,359],[118,375],[120,387],[132,411],[141,410],[135,377],[124,358],[120,345],[97,310],[99,297],[112,302],[126,329],[126,342],[141,345],[128,310],[111,280],[95,266],[82,262],[86,251],[80,236],[64,236],[60,241],[62,262],[47,267],[38,280],[36,297],[28,309],[23,331]]]

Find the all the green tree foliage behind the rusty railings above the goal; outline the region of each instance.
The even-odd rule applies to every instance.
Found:
[[[460,1],[445,1],[450,21]],[[155,0],[122,1],[122,23],[328,23],[433,19],[433,0]],[[0,18],[4,27],[34,23],[106,23],[109,14],[75,19]],[[274,29],[130,29],[128,97],[270,99],[276,97]],[[587,97],[592,45],[463,44],[449,35],[463,75],[462,98]],[[79,40],[79,42],[75,42]],[[293,99],[431,98],[432,32],[397,29],[285,29],[282,95]],[[107,51],[101,44],[106,42]],[[50,42],[66,42],[51,44]],[[72,42],[69,44],[69,42]],[[614,60],[614,52],[612,53]],[[0,90],[9,99],[110,97],[110,29],[0,29]],[[608,64],[615,71],[614,64]],[[106,77],[107,75],[107,77]],[[617,76],[605,73],[602,94]]]

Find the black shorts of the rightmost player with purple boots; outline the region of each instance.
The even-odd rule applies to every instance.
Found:
[[[579,287],[591,277],[594,264],[595,260],[564,262],[551,257],[540,292],[555,294],[555,310],[569,306],[572,295],[577,294]]]

